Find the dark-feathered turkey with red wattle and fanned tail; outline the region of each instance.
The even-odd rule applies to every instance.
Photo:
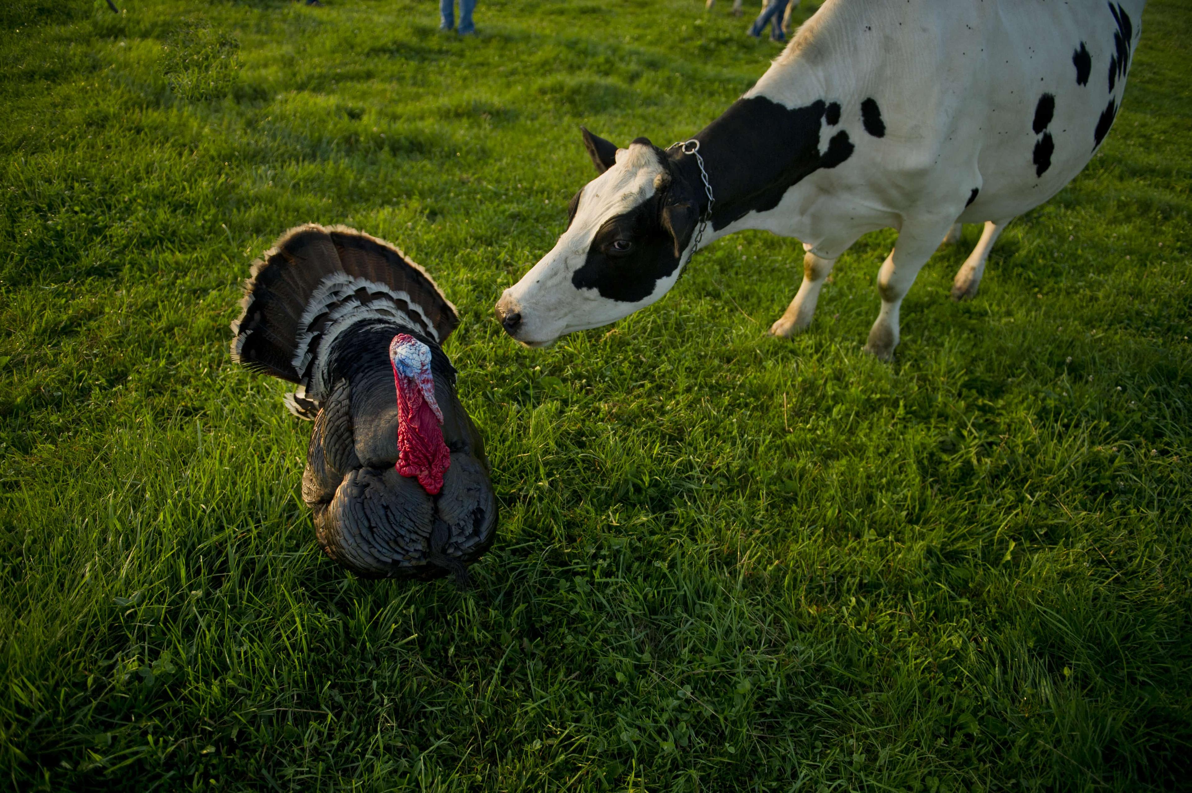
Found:
[[[300,225],[253,264],[241,305],[232,359],[297,384],[286,404],[315,421],[302,497],[327,555],[467,586],[497,504],[441,348],[459,317],[430,275],[367,234]]]

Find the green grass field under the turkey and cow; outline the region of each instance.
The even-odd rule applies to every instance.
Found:
[[[1150,2],[1101,153],[976,301],[979,229],[940,250],[883,365],[893,233],[793,342],[801,248],[753,233],[551,349],[492,320],[579,123],[669,143],[777,54],[727,0],[482,0],[472,39],[327,2],[0,10],[0,787],[1188,789],[1192,8]],[[310,425],[229,359],[306,221],[461,309],[474,591],[322,556]]]

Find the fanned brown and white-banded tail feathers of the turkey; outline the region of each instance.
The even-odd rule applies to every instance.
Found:
[[[395,246],[342,225],[299,225],[253,264],[232,360],[297,383],[286,399],[313,419],[331,342],[367,320],[397,322],[442,343],[459,324],[434,279]]]

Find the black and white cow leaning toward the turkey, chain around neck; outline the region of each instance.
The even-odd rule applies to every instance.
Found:
[[[666,293],[697,247],[741,229],[796,237],[803,280],[770,333],[812,321],[837,258],[899,231],[865,348],[889,359],[899,306],[957,223],[985,233],[952,296],[976,293],[1014,216],[1089,161],[1122,104],[1146,0],[827,0],[695,154],[584,130],[600,176],[567,230],[497,303],[528,346],[614,322]],[[687,150],[694,148],[688,145]],[[697,229],[703,227],[700,238]]]

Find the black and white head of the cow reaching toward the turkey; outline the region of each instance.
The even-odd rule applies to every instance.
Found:
[[[690,256],[700,222],[697,193],[677,159],[642,137],[617,149],[586,129],[583,136],[600,175],[571,199],[554,248],[496,306],[505,332],[530,347],[660,298]]]

